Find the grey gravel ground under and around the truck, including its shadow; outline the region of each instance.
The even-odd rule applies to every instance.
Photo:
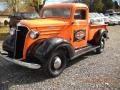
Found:
[[[80,56],[56,78],[0,58],[0,90],[120,90],[120,26],[109,29],[104,53]]]

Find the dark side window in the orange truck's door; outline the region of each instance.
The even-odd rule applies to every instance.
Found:
[[[74,19],[76,20],[85,20],[86,19],[86,10],[76,10]]]

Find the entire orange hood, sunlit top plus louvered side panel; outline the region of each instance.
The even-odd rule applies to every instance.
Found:
[[[40,32],[40,38],[50,38],[58,36],[61,31],[68,32],[65,28],[69,26],[68,21],[54,20],[54,19],[36,19],[36,20],[22,20],[20,25],[26,26],[29,30],[37,30]],[[19,25],[18,25],[19,26]],[[61,35],[62,36],[62,35]]]

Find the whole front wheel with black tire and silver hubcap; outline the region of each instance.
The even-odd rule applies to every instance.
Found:
[[[60,75],[67,65],[67,59],[62,50],[54,51],[47,61],[45,73],[52,77]]]

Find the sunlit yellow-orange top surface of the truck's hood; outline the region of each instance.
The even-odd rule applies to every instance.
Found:
[[[20,24],[29,28],[46,27],[46,26],[64,26],[67,22],[54,19],[35,19],[35,20],[21,20]]]

